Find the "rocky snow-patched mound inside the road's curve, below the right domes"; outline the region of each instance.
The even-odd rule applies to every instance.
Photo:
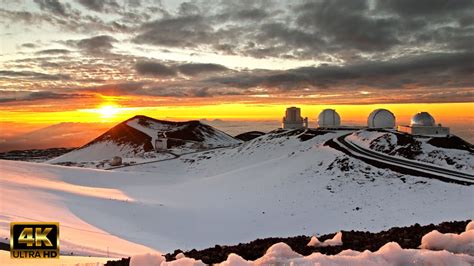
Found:
[[[474,172],[474,148],[456,136],[422,137],[396,131],[360,130],[347,139],[361,147],[391,156]]]

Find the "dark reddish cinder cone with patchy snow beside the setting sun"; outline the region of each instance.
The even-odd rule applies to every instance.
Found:
[[[50,160],[53,164],[72,163],[73,165],[98,166],[102,160],[114,156],[128,158],[128,161],[146,161],[146,159],[165,159],[167,154],[157,154],[155,140],[165,134],[168,143],[180,151],[192,150],[191,143],[200,143],[205,147],[229,146],[240,143],[239,140],[199,121],[171,122],[156,120],[146,116],[135,116],[86,145],[63,156]],[[172,157],[172,156],[171,156]],[[127,161],[127,160],[126,160]],[[82,163],[82,164],[81,164]]]

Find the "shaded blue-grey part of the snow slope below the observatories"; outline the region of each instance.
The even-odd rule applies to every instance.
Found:
[[[347,133],[274,131],[120,171],[153,175],[127,195],[164,205],[153,211],[163,228],[155,234],[168,240],[152,243],[160,250],[474,217],[471,187],[380,169],[324,145]]]

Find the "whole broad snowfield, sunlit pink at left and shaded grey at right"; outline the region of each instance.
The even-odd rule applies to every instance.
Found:
[[[121,257],[474,217],[473,186],[376,168],[324,145],[342,134],[303,141],[276,131],[113,171],[0,161],[0,237],[10,221],[58,221],[65,252],[108,247]]]

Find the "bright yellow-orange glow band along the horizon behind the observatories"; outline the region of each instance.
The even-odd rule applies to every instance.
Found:
[[[146,115],[164,120],[199,120],[223,119],[233,121],[280,121],[289,106],[301,108],[302,116],[310,121],[317,119],[319,112],[326,108],[336,109],[342,122],[353,124],[364,122],[370,112],[378,108],[392,111],[397,123],[408,121],[421,111],[430,112],[437,123],[449,124],[450,121],[463,119],[474,122],[474,103],[438,103],[438,104],[367,104],[367,105],[311,105],[311,104],[215,104],[199,106],[156,106],[156,107],[122,107],[106,102],[92,109],[73,111],[2,111],[0,122],[54,124],[61,122],[115,123],[124,121],[135,115]],[[462,116],[460,116],[462,114]]]

